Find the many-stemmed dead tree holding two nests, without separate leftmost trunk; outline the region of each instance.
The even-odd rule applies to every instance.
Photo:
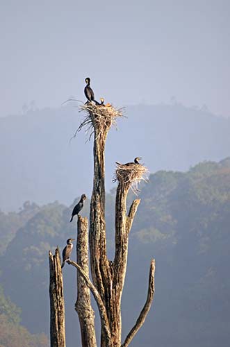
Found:
[[[154,298],[155,261],[151,260],[149,288],[146,303],[135,325],[122,344],[121,298],[126,276],[129,246],[129,232],[138,209],[140,199],[131,203],[126,213],[126,197],[129,189],[137,190],[137,184],[145,176],[147,168],[141,164],[117,164],[115,180],[117,193],[115,202],[115,257],[108,260],[106,253],[105,221],[105,145],[110,127],[122,110],[111,105],[83,105],[85,118],[78,130],[87,126],[94,135],[94,180],[90,203],[90,270],[88,264],[87,219],[78,219],[77,262],[69,260],[77,271],[78,296],[76,311],[79,314],[83,347],[97,347],[95,340],[94,312],[90,303],[90,293],[95,298],[101,319],[101,347],[127,347],[145,321]]]

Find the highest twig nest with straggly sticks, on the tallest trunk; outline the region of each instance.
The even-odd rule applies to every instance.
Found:
[[[95,127],[97,127],[98,135],[104,134],[105,129],[109,129],[110,126],[117,125],[117,118],[124,117],[124,108],[115,108],[113,105],[95,105],[93,103],[83,104],[79,107],[79,112],[84,112],[85,117],[81,122],[79,128],[73,137],[85,127],[85,133],[90,132],[89,140],[93,133],[95,133]]]

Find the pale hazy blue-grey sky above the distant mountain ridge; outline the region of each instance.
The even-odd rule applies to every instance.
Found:
[[[0,0],[0,115],[84,100],[230,116],[229,0]]]

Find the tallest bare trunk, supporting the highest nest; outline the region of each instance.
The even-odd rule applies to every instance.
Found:
[[[108,322],[111,323],[112,273],[106,254],[106,222],[105,222],[105,143],[110,123],[99,128],[95,117],[90,112],[95,128],[94,140],[94,184],[90,203],[90,265],[92,281],[104,301]],[[111,331],[113,341],[113,331]],[[112,343],[111,341],[111,343]],[[101,327],[101,347],[107,347],[104,328]]]

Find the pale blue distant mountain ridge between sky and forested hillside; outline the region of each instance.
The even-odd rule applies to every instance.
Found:
[[[0,209],[24,201],[70,204],[90,194],[92,141],[83,131],[69,142],[83,115],[69,105],[0,118]],[[106,144],[106,189],[115,161],[142,156],[150,172],[187,170],[196,162],[230,155],[230,119],[183,105],[135,105],[118,121]]]

